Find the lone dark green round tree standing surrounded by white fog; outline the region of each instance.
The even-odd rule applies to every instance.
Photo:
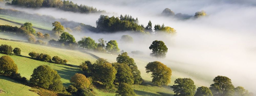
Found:
[[[149,49],[152,49],[152,53],[150,56],[156,57],[156,58],[164,58],[166,56],[166,53],[168,51],[168,48],[164,44],[163,41],[155,40],[150,45]]]

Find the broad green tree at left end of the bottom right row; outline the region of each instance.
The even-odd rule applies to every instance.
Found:
[[[178,78],[174,81],[174,84],[171,86],[174,91],[174,96],[194,96],[196,91],[196,86],[194,81],[190,78]]]

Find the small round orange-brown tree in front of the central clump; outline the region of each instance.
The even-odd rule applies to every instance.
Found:
[[[86,76],[79,73],[76,73],[73,77],[71,77],[70,83],[72,83],[72,85],[77,89],[88,88],[91,84],[90,81],[86,78]]]

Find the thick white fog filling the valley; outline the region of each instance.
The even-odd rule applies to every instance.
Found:
[[[144,26],[151,20],[152,25],[164,23],[177,30],[175,35],[141,35],[129,34],[130,32],[73,34],[77,41],[83,36],[92,37],[96,41],[99,38],[107,41],[117,40],[121,50],[144,52],[143,56],[134,56],[136,58],[145,59],[148,62],[161,61],[170,68],[175,66],[213,78],[218,75],[227,76],[235,87],[243,86],[250,92],[256,92],[254,82],[256,81],[256,2],[253,0],[71,1],[79,5],[85,4],[106,10],[110,16],[130,14],[135,18],[138,17],[139,24]],[[5,6],[5,8],[10,8],[10,6]],[[175,13],[189,15],[205,10],[207,16],[188,20],[159,16],[165,8],[170,8]],[[96,26],[95,21],[100,16],[100,14],[80,14],[52,8],[15,9],[28,13],[52,15],[55,18],[67,18],[92,26]],[[126,34],[133,37],[133,43],[126,44],[120,41],[121,36]],[[165,42],[168,47],[166,58],[156,59],[149,56],[151,50],[148,47],[154,40]],[[175,62],[186,65],[179,65]]]

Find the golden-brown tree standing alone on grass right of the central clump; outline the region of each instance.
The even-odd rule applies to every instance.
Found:
[[[147,64],[146,73],[151,72],[152,82],[157,86],[168,86],[171,82],[172,70],[161,62],[154,61]]]

